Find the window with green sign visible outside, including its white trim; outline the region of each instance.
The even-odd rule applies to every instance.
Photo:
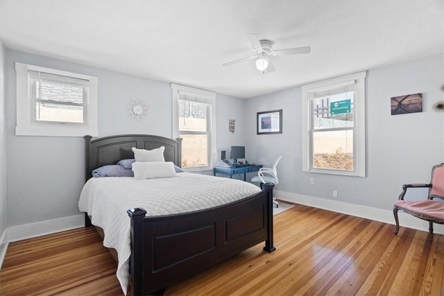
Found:
[[[365,177],[365,78],[302,85],[303,171]]]

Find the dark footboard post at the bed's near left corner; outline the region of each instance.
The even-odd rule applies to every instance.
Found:
[[[126,211],[131,219],[131,295],[144,294],[144,250],[143,233],[146,211],[142,208],[128,209]],[[134,235],[139,234],[139,235]]]

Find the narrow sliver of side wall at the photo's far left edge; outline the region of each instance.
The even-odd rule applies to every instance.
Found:
[[[0,40],[0,238],[6,229],[8,187],[6,182],[6,135],[5,135],[5,48]],[[1,243],[1,241],[0,241]]]

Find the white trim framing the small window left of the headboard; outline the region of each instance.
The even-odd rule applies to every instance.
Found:
[[[40,71],[89,80],[89,96],[87,101],[87,124],[85,125],[64,125],[57,123],[36,124],[33,123],[32,100],[29,95],[31,90],[28,83],[28,71]],[[17,72],[17,125],[15,134],[17,136],[56,136],[56,137],[83,137],[89,134],[93,137],[99,136],[97,123],[97,82],[98,78],[78,73],[60,71],[44,67],[33,66],[31,64],[15,63]]]

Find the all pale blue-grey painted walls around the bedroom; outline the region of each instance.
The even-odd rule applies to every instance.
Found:
[[[171,137],[171,88],[158,82],[122,73],[87,67],[62,60],[31,55],[0,46],[0,231],[23,225],[79,214],[77,202],[83,186],[83,139],[71,137],[15,136],[15,62],[35,64],[99,77],[99,136],[126,133],[158,134]],[[0,54],[0,57],[2,56]],[[341,177],[302,173],[300,87],[243,100],[218,94],[216,97],[216,149],[246,145],[250,162],[278,166],[278,190],[391,209],[401,185],[429,182],[430,169],[442,162],[444,116],[432,111],[443,99],[443,56],[406,62],[392,67],[370,69],[367,73],[367,177]],[[4,89],[4,96],[2,94]],[[211,90],[211,89],[210,89]],[[424,112],[390,115],[390,97],[422,92]],[[146,120],[128,116],[128,103],[139,98],[150,106]],[[2,110],[2,103],[5,109]],[[283,110],[283,133],[257,135],[256,113]],[[234,119],[236,132],[228,131]],[[3,123],[3,120],[5,122]],[[1,146],[0,146],[1,149]],[[250,174],[249,177],[252,177]],[[309,178],[315,184],[309,184]],[[7,178],[7,182],[6,182]],[[6,191],[6,186],[8,191]],[[338,198],[332,198],[332,191]],[[7,193],[7,207],[6,204]],[[6,223],[6,208],[8,217]],[[3,220],[4,221],[4,220]],[[1,224],[3,223],[3,224]]]

